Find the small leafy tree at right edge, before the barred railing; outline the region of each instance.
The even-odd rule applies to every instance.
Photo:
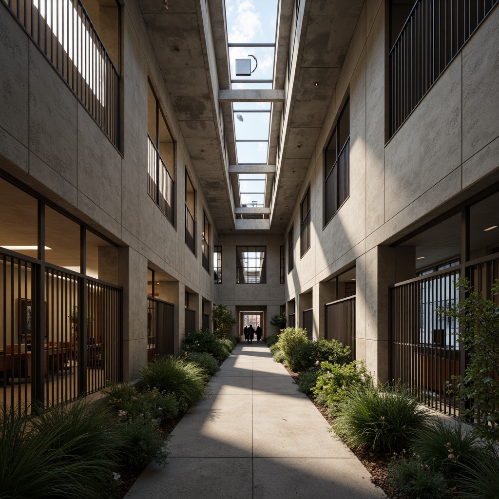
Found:
[[[463,415],[476,420],[475,431],[480,437],[499,440],[499,305],[473,290],[467,278],[460,278],[457,287],[467,298],[455,307],[439,308],[439,313],[459,319],[460,347],[468,352],[469,363],[464,376],[453,376],[463,402],[471,406]],[[491,288],[493,299],[499,294],[499,279]]]

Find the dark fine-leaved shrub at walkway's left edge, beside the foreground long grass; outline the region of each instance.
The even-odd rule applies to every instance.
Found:
[[[166,466],[166,458],[170,454],[165,448],[166,439],[159,428],[158,420],[137,417],[127,419],[122,416],[120,440],[123,446],[124,461],[131,468],[141,468],[151,461]]]

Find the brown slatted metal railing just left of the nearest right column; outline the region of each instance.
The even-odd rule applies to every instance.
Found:
[[[355,360],[355,296],[326,303],[324,312],[324,338],[349,346]]]

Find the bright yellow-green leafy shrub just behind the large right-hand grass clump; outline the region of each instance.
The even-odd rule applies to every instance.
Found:
[[[342,366],[322,362],[317,374],[313,394],[319,404],[325,405],[333,412],[339,404],[345,402],[349,388],[364,383],[369,378],[364,362],[356,360]]]

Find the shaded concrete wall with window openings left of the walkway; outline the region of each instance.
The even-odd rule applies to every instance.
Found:
[[[126,0],[121,13],[120,152],[0,5],[0,67],[9,68],[0,71],[0,169],[120,245],[124,375],[133,377],[147,360],[148,266],[177,281],[165,294],[176,304],[176,347],[183,334],[184,287],[197,293],[200,303],[215,297],[213,269],[208,273],[202,267],[201,251],[203,210],[209,218],[210,211],[137,1]],[[176,140],[174,225],[147,193],[148,76]],[[196,254],[184,242],[186,169],[197,191]]]

